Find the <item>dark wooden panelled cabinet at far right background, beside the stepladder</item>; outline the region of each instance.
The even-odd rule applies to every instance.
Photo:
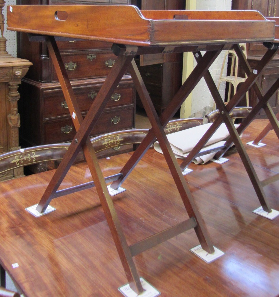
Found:
[[[232,0],[232,10],[258,10],[264,16],[267,17],[278,17],[279,16],[279,1],[278,0]],[[247,60],[250,66],[253,68],[261,57],[266,52],[266,48],[262,43],[249,43],[247,44]],[[230,69],[230,67],[228,67]],[[241,68],[239,71],[241,73]],[[242,76],[244,72],[242,71]],[[272,83],[279,77],[279,55],[265,67],[262,75],[258,78],[258,82],[265,94],[266,90],[270,88]],[[243,102],[244,103],[244,102]],[[243,103],[241,103],[243,105]],[[255,106],[258,103],[258,98],[253,91],[249,91],[249,105]],[[269,99],[269,104],[272,107],[274,113],[279,111],[279,92]],[[245,105],[245,104],[244,104]],[[258,114],[258,117],[265,117],[263,110]]]

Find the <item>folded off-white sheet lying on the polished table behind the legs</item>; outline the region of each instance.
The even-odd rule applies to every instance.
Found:
[[[167,138],[171,145],[171,148],[174,152],[174,155],[177,159],[184,159],[188,156],[189,152],[196,146],[205,132],[209,129],[212,123],[192,127],[189,129],[181,130],[178,132],[167,134]],[[235,125],[237,128],[239,124]],[[227,136],[229,136],[229,131],[227,130],[226,125],[223,123],[220,127],[215,131],[215,133],[211,136],[211,138],[206,143],[206,146],[201,150],[213,149],[219,146],[222,146]],[[159,142],[156,141],[154,143],[154,149],[159,153],[163,153]],[[216,152],[207,154],[204,156],[197,157],[193,160],[195,164],[205,164],[209,160],[211,160],[215,156]]]

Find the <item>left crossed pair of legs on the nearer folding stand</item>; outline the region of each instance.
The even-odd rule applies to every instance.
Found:
[[[90,110],[88,111],[89,116],[86,119],[90,119],[85,119],[83,121],[73,90],[71,88],[70,81],[68,79],[68,75],[65,72],[65,67],[63,67],[63,62],[54,37],[47,37],[46,43],[49,49],[49,53],[52,57],[52,62],[57,72],[57,76],[59,78],[66,102],[68,104],[69,111],[72,115],[77,134],[72,141],[68,151],[66,152],[65,157],[57,168],[43,197],[41,198],[37,210],[42,212],[49,205],[49,202],[54,197],[59,185],[68,172],[68,169],[70,168],[75,157],[82,148],[92,178],[95,182],[96,190],[98,192],[101,205],[104,209],[105,216],[130,287],[138,293],[143,292],[143,288],[137,270],[135,268],[130,249],[122,231],[119,219],[116,215],[116,211],[113,207],[113,203],[107,190],[105,179],[102,175],[101,169],[99,168],[99,163],[89,138],[89,134],[94,124],[96,124],[96,121],[102,113],[102,110],[104,109],[107,101],[110,99],[114,89],[126,72],[128,65],[133,59],[133,56],[120,56],[119,59],[116,60],[112,71],[108,75],[108,79],[102,86],[101,90],[98,93],[98,96],[96,97]]]

